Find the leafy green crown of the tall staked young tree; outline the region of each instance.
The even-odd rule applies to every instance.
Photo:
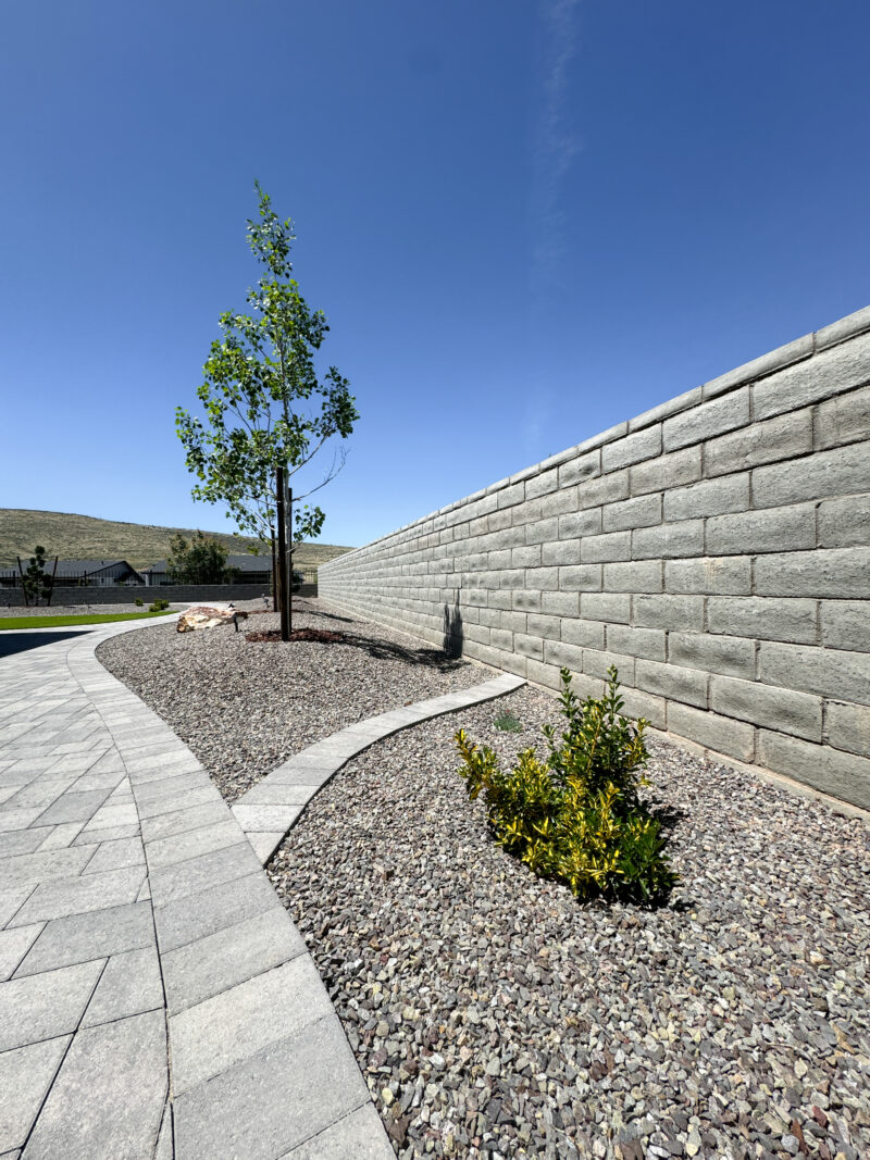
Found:
[[[309,307],[290,277],[292,222],[282,222],[259,182],[255,188],[260,218],[248,219],[247,238],[266,271],[248,291],[249,314],[220,316],[222,336],[211,343],[197,390],[204,419],[183,407],[175,416],[187,467],[198,480],[194,499],[225,503],[240,531],[269,541],[276,469],[293,476],[327,441],[346,440],[358,414],[335,367],[318,377],[314,354],[329,329],[326,316]],[[324,479],[295,500],[319,491],[343,463],[339,444]],[[322,523],[319,507],[293,503],[295,542],[316,537]]]

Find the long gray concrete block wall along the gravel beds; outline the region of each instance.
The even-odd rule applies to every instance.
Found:
[[[870,809],[870,307],[319,570],[320,596]]]

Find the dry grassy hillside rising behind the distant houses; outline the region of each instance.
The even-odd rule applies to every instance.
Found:
[[[128,560],[133,567],[146,567],[169,554],[169,542],[181,532],[190,538],[190,528],[160,528],[147,523],[121,523],[97,520],[89,515],[64,512],[31,512],[27,508],[0,508],[0,566],[15,564],[32,556],[42,544],[50,556],[70,560]],[[205,531],[220,541],[230,552],[246,552],[251,539],[225,531]],[[303,544],[293,556],[296,567],[317,567],[350,551],[335,544]]]

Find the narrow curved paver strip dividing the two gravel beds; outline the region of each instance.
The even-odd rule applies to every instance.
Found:
[[[418,701],[416,704],[348,725],[295,754],[242,793],[232,807],[235,820],[247,834],[260,862],[266,865],[309,802],[357,754],[400,730],[503,697],[523,684],[525,681],[522,677],[505,674],[471,689]]]

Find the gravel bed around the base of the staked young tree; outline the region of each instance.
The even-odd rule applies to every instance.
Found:
[[[174,624],[125,632],[96,650],[196,754],[232,803],[261,777],[346,725],[426,697],[466,689],[487,673],[412,637],[293,601],[293,628],[340,631],[346,644],[248,643],[280,628],[262,602],[232,625],[180,633]]]

